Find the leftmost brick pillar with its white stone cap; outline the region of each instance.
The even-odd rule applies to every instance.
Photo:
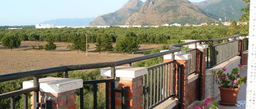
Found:
[[[45,103],[46,100],[52,100],[53,108],[76,108],[75,90],[82,87],[81,79],[42,78],[39,79],[39,84],[39,103]],[[23,82],[23,88],[32,86],[33,80]],[[31,95],[31,108],[33,109],[33,93],[31,93]]]

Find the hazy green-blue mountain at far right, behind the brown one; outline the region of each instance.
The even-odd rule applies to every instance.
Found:
[[[206,0],[195,4],[209,14],[227,17],[228,20],[239,20],[243,15],[241,9],[246,7],[242,0]]]

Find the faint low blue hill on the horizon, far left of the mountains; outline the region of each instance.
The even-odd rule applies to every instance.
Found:
[[[84,26],[88,25],[95,18],[64,18],[41,22],[39,24],[57,24],[63,26]]]

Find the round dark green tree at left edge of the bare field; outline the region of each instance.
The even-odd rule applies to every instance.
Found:
[[[5,48],[17,48],[20,46],[21,42],[18,36],[16,35],[7,35],[2,38],[2,44]]]

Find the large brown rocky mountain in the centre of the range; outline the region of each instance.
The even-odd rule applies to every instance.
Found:
[[[215,22],[196,5],[187,0],[147,0],[126,25],[160,25],[165,23]]]

